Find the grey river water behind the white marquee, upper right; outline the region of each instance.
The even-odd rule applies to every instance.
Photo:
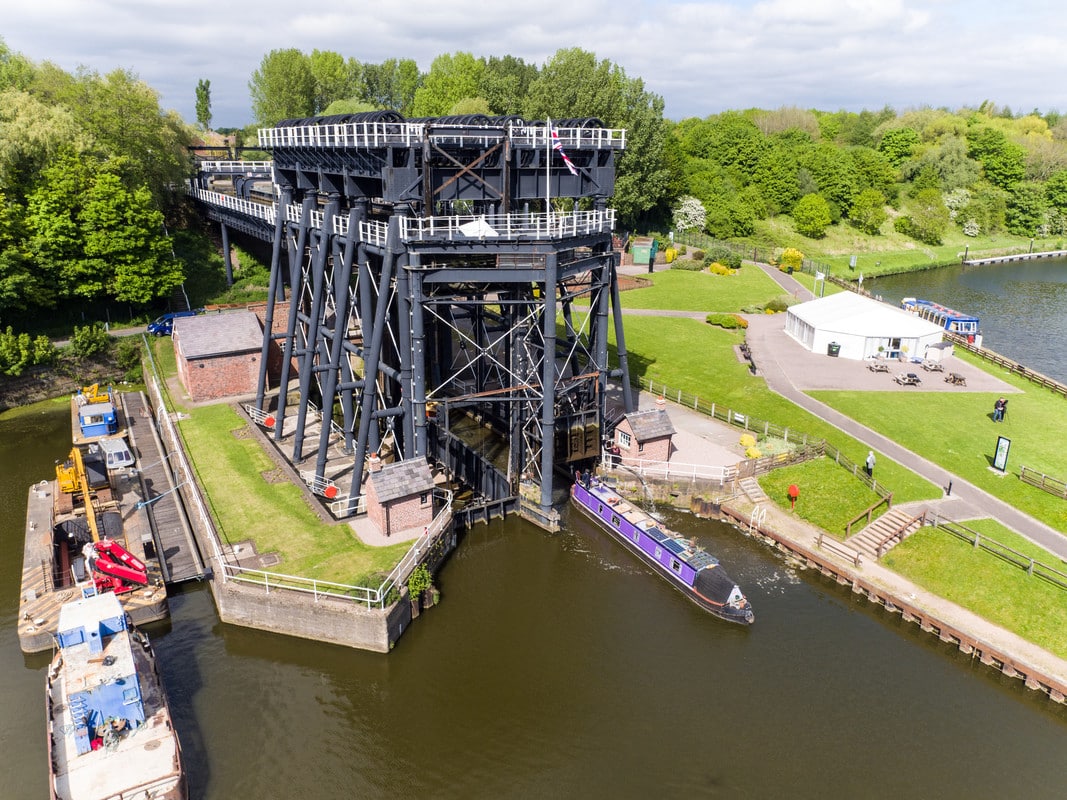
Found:
[[[867,278],[863,288],[898,304],[933,300],[981,321],[983,346],[1067,383],[1067,260],[1036,259]]]

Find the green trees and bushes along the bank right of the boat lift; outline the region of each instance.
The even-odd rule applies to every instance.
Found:
[[[966,236],[1067,233],[1067,118],[991,103],[949,111],[727,112],[671,126],[686,176],[679,229],[750,237],[792,217],[818,238],[847,224],[939,244]],[[891,222],[890,222],[891,218]]]

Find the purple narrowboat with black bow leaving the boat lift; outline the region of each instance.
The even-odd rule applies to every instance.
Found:
[[[571,489],[574,505],[651,564],[671,586],[716,617],[751,625],[752,605],[714,556],[660,525],[595,478]]]

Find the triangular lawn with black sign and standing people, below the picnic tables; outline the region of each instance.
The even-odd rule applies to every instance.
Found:
[[[998,397],[993,393],[812,391],[811,396],[1067,532],[1067,501],[1019,479],[1020,465],[1067,478],[1061,435],[1067,401],[1000,368],[990,371],[1023,389],[1009,396],[1007,417],[999,423],[990,418]],[[1012,441],[1007,475],[990,468],[998,436]]]

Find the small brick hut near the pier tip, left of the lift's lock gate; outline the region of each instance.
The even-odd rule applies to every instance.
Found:
[[[372,460],[373,461],[373,460]],[[386,537],[433,522],[433,475],[425,461],[371,464],[367,476],[367,517]]]

